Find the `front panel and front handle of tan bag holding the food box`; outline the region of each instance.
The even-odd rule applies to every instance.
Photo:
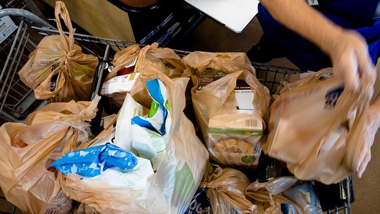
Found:
[[[254,110],[238,111],[235,96],[238,78],[243,78],[250,85],[254,94]],[[235,72],[199,91],[193,88],[193,105],[202,133],[211,158],[218,163],[251,169],[257,167],[261,153],[260,140],[265,130],[262,116],[263,112],[268,111],[262,112],[261,107],[265,106],[265,102],[268,104],[269,96],[256,81],[252,73]]]

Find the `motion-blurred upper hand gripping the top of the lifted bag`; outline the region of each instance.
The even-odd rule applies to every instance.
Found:
[[[361,76],[375,78],[367,43],[359,33],[338,30],[325,45],[335,76],[342,79],[348,89],[357,90]]]

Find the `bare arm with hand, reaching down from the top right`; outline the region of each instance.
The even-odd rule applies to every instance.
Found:
[[[330,56],[334,73],[356,90],[359,75],[375,76],[366,41],[331,22],[304,0],[260,0],[278,22],[316,44]]]

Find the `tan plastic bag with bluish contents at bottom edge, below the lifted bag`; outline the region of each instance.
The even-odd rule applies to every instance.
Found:
[[[294,177],[277,177],[265,183],[254,182],[245,194],[253,199],[252,213],[255,214],[282,213],[280,204],[288,204],[289,213],[322,213],[311,184],[298,183]]]

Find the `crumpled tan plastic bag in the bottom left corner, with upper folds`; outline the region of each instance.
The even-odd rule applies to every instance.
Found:
[[[97,101],[90,103],[83,103],[88,108],[81,112],[92,111],[92,116],[65,112],[67,103],[50,103],[38,114],[27,117],[29,124],[6,123],[0,127],[0,168],[3,170],[0,187],[8,201],[27,213],[67,213],[70,210],[71,203],[56,185],[57,172],[50,164],[62,157],[65,144],[77,145],[88,140],[89,124],[81,117],[95,117]],[[66,108],[57,108],[60,113],[55,112],[55,115],[54,111],[44,111],[51,110],[49,105],[55,104]],[[67,120],[68,117],[71,120]]]

